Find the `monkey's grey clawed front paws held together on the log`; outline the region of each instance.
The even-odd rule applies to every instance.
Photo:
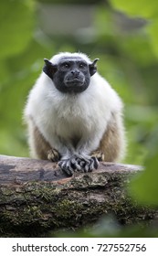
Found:
[[[74,154],[68,159],[63,159],[58,163],[62,171],[66,172],[68,176],[72,176],[74,172],[91,172],[97,169],[99,161],[95,156],[83,156]]]

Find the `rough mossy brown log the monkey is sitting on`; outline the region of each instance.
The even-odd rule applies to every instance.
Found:
[[[67,176],[49,161],[0,155],[0,236],[41,237],[48,230],[78,229],[102,215],[121,224],[157,219],[127,193],[141,166],[100,163],[91,173]]]

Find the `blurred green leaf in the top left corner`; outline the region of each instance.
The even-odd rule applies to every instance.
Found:
[[[34,1],[7,0],[0,3],[1,59],[26,48],[33,29]]]

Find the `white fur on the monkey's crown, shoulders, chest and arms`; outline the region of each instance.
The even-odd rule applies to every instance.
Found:
[[[64,56],[81,57],[90,63],[90,59],[81,53],[60,53],[50,61],[57,64]],[[43,72],[30,91],[25,119],[30,126],[29,133],[32,133],[31,117],[47,142],[64,158],[72,153],[89,155],[97,149],[111,113],[118,113],[121,119],[121,109],[121,99],[99,73],[90,78],[90,86],[86,91],[71,95],[58,91]],[[80,138],[77,148],[71,144],[74,136]],[[33,156],[36,156],[32,137],[30,146]]]

